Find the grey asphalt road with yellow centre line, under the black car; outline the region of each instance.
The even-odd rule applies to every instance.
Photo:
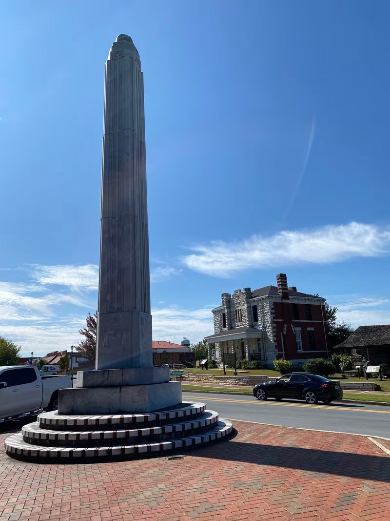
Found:
[[[296,400],[260,402],[252,396],[183,391],[183,401],[201,401],[221,418],[390,438],[390,407],[331,403],[308,405]]]

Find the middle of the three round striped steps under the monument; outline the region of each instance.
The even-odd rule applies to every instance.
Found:
[[[180,423],[170,423],[142,429],[58,431],[42,429],[37,421],[22,427],[22,437],[27,443],[50,446],[90,446],[111,444],[132,444],[165,441],[171,438],[192,436],[213,428],[218,421],[218,413],[204,411],[196,419]]]

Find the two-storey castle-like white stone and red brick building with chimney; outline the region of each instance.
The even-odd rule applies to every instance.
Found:
[[[277,275],[277,286],[244,288],[222,294],[222,305],[212,309],[214,334],[206,337],[222,353],[261,361],[272,367],[275,358],[298,366],[308,358],[329,357],[325,299],[288,287],[287,276]]]

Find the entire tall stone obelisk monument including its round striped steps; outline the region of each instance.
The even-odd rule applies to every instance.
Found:
[[[144,88],[126,34],[111,46],[105,86],[96,369],[59,390],[58,411],[5,440],[6,453],[23,460],[181,452],[232,432],[204,403],[183,403],[181,383],[152,365]]]

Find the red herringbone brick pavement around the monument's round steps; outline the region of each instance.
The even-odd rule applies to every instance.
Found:
[[[390,457],[367,438],[234,425],[181,461],[24,463],[0,435],[0,519],[390,520]]]

